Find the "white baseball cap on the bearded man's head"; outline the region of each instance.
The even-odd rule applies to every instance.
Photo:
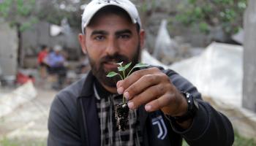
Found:
[[[105,6],[117,6],[124,9],[132,20],[132,23],[138,23],[141,28],[140,15],[137,8],[129,0],[92,0],[86,5],[82,15],[82,32],[84,34],[84,28],[89,24],[91,18]]]

